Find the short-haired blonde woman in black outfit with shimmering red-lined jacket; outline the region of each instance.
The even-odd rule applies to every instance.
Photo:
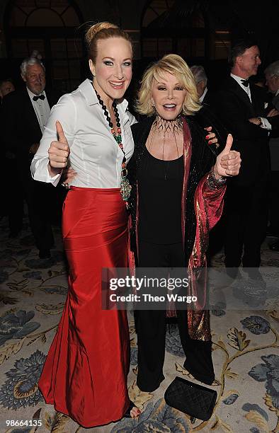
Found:
[[[200,110],[193,74],[176,54],[144,73],[137,110],[147,115],[132,125],[135,153],[129,163],[137,265],[166,268],[166,275],[173,267],[205,267],[208,232],[222,214],[226,178],[239,173],[232,136],[216,158],[193,116]],[[211,384],[209,315],[202,308],[204,293],[201,298],[198,310],[186,307],[176,315],[186,369]],[[150,392],[164,380],[166,311],[137,311],[136,326],[137,385]]]

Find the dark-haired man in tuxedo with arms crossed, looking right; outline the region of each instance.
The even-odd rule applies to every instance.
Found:
[[[231,74],[214,100],[220,121],[234,137],[233,147],[241,154],[241,171],[227,183],[225,265],[236,277],[242,261],[249,277],[261,279],[258,267],[266,236],[270,172],[268,96],[265,89],[249,83],[261,64],[255,42],[239,40],[232,46],[229,63]]]

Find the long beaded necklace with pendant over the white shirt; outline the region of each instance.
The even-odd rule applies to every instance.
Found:
[[[113,137],[115,139],[115,142],[118,144],[118,146],[120,147],[120,149],[123,151],[123,160],[121,163],[121,186],[120,186],[120,194],[126,204],[126,207],[128,209],[129,204],[127,202],[127,200],[129,200],[130,197],[130,193],[132,190],[132,187],[129,183],[129,180],[127,179],[127,164],[126,164],[126,157],[125,157],[125,151],[123,148],[123,142],[122,142],[122,135],[121,135],[121,125],[120,125],[120,118],[119,118],[119,114],[118,114],[118,108],[117,108],[117,104],[115,102],[115,100],[113,101],[113,111],[115,113],[115,120],[116,120],[116,126],[117,126],[117,133],[115,132],[115,129],[113,127],[113,122],[111,122],[110,119],[110,115],[108,112],[108,108],[106,107],[106,105],[103,103],[103,100],[101,99],[101,96],[98,94],[98,92],[96,91],[96,88],[94,88],[94,91],[96,93],[96,96],[98,98],[98,102],[101,105],[101,108],[103,109],[103,113],[106,117],[106,120],[108,121],[108,125],[110,127],[110,132],[113,134]]]

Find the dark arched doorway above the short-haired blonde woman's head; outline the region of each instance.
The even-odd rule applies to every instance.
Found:
[[[142,57],[175,52],[193,62],[227,59],[234,13],[210,0],[148,0]]]

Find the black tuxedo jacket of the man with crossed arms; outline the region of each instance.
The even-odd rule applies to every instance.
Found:
[[[250,84],[251,101],[246,91],[231,76],[212,98],[220,122],[234,137],[232,149],[241,153],[239,175],[232,185],[249,186],[266,178],[270,170],[268,131],[249,122],[251,117],[265,117],[268,96],[263,88]]]

